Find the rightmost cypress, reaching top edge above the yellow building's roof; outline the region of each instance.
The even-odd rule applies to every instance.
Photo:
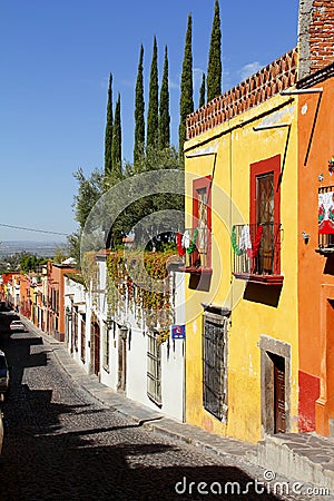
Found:
[[[206,86],[208,101],[222,94],[222,32],[218,0],[215,3]]]

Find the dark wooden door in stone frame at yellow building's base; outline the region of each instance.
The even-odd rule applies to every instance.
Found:
[[[274,432],[285,433],[285,361],[282,356],[274,358]]]

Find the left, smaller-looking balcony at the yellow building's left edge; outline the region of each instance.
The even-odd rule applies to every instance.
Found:
[[[187,228],[177,246],[184,262],[179,271],[191,274],[212,273],[210,229]]]

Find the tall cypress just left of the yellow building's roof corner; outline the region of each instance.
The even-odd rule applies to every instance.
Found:
[[[191,48],[193,19],[188,16],[188,24],[185,41],[185,55],[183,61],[183,72],[180,80],[179,114],[180,122],[178,128],[179,156],[184,156],[184,143],[186,140],[187,115],[194,111],[193,98],[193,48]]]

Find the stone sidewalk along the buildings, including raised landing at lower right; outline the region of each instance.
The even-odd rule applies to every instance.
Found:
[[[116,409],[153,432],[225,458],[229,464],[239,466],[252,475],[259,478],[264,477],[264,472],[271,472],[276,480],[296,480],[308,485],[327,488],[334,494],[333,439],[315,433],[286,433],[267,436],[258,444],[250,444],[181,423],[115,392],[100,383],[95,374],[86,374],[70,356],[63,343],[43,333],[27,318],[22,320],[30,331],[52,347],[56,358],[67,374],[104,405]],[[326,499],[334,499],[334,495],[326,495]]]

